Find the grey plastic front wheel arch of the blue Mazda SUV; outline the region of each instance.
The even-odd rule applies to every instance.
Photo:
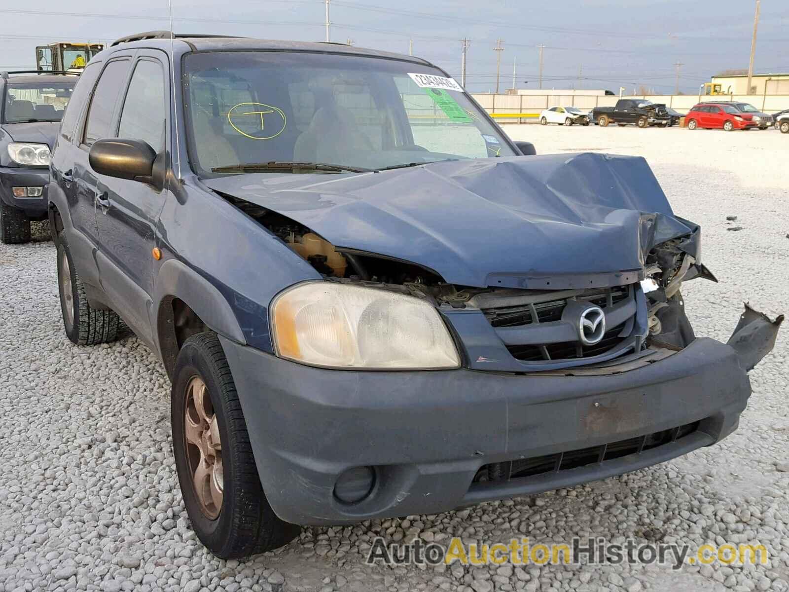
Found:
[[[208,329],[246,343],[241,326],[222,293],[181,261],[166,260],[156,279],[155,323],[159,353],[172,377],[181,345]]]

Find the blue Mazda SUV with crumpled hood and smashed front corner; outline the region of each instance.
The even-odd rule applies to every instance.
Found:
[[[50,226],[69,339],[122,319],[172,379],[213,553],[567,487],[736,428],[780,319],[695,338],[681,283],[714,278],[644,159],[524,156],[419,58],[169,37],[88,63]]]

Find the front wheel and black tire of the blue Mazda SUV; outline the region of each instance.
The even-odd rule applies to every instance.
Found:
[[[181,493],[208,550],[236,559],[296,537],[299,527],[275,515],[260,485],[230,366],[214,333],[192,335],[181,347],[170,404]]]

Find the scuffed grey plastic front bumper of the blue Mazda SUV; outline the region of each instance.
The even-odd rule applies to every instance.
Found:
[[[302,525],[433,514],[661,463],[734,431],[750,396],[742,352],[713,339],[639,369],[589,377],[317,369],[221,340],[268,501],[281,519]],[[694,433],[658,448],[473,483],[489,463],[692,422],[700,422]],[[344,504],[335,482],[356,466],[375,467],[376,484],[365,500]]]

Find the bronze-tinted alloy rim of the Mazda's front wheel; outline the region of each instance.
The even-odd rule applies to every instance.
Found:
[[[186,387],[184,427],[186,454],[192,471],[192,485],[200,510],[211,520],[219,516],[224,496],[222,440],[211,395],[200,377]]]

